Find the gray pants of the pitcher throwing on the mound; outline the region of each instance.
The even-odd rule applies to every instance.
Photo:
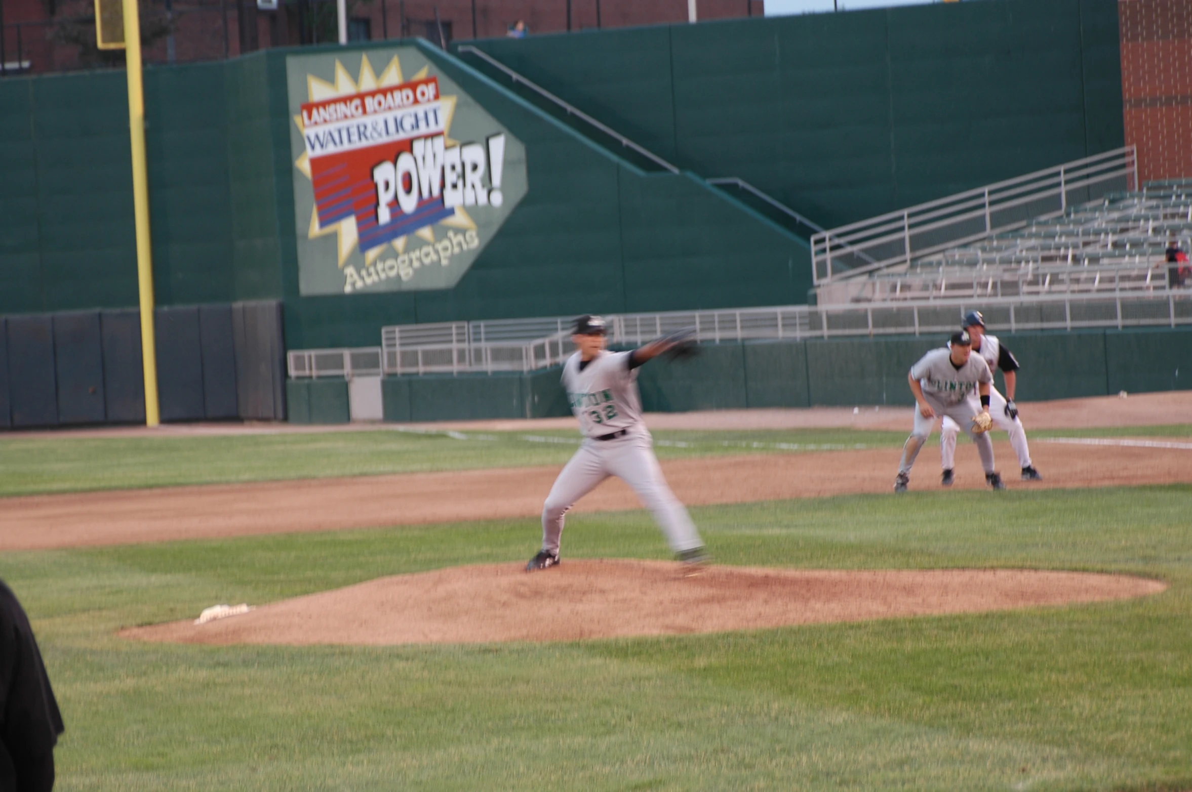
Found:
[[[567,510],[610,475],[633,487],[641,503],[654,513],[671,550],[682,553],[703,547],[687,509],[666,486],[650,432],[631,430],[616,439],[585,439],[559,473],[542,506],[544,550],[559,551]]]

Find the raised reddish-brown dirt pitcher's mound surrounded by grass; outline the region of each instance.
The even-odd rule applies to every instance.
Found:
[[[971,613],[1154,594],[1155,580],[1023,569],[827,572],[665,561],[454,567],[380,578],[195,625],[122,630],[142,641],[294,646],[576,641]]]

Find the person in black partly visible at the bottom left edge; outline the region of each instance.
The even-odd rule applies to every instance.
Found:
[[[0,580],[0,790],[50,792],[62,715],[17,595]]]

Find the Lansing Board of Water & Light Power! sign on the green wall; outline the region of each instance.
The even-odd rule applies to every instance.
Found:
[[[451,288],[524,197],[526,149],[417,48],[286,58],[299,291]]]

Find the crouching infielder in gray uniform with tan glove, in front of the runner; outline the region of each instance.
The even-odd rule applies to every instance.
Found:
[[[936,416],[950,417],[957,424],[968,426],[981,456],[986,484],[994,489],[1005,489],[1001,476],[993,468],[993,443],[986,431],[991,423],[988,411],[993,375],[985,358],[973,354],[968,332],[952,333],[948,347],[924,355],[911,367],[907,382],[919,406],[914,412],[914,429],[902,447],[894,492],[906,492],[914,457],[927,442]],[[979,422],[985,424],[985,429],[975,431]]]

